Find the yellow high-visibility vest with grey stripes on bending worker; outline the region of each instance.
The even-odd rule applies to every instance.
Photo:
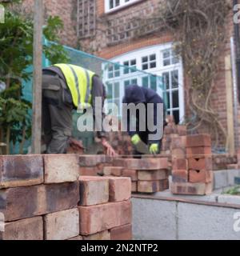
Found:
[[[74,106],[78,108],[90,104],[94,72],[71,64],[55,64],[54,66],[62,70],[72,94]]]

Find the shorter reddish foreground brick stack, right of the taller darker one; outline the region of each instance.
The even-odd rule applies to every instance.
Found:
[[[132,239],[130,197],[130,178],[80,178],[80,239]]]

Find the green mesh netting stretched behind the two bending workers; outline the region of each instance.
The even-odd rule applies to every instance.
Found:
[[[44,43],[50,44],[54,42],[47,42],[45,40]],[[147,73],[142,70],[137,70],[134,65],[123,66],[120,63],[110,62],[106,59],[98,58],[94,55],[87,54],[81,50],[75,50],[68,46],[64,46],[64,49],[69,55],[70,64],[82,66],[88,70],[92,70],[102,78],[102,81],[106,86],[108,102],[115,102],[117,105],[119,105],[122,102],[122,98],[124,96],[125,86],[129,86],[130,84],[138,84],[138,86],[151,88],[158,92],[158,94],[162,96],[165,105],[168,105],[165,94],[166,89],[162,82],[162,77]],[[46,58],[43,58],[42,66],[50,66],[50,62]],[[32,67],[29,67],[29,70],[32,70]],[[32,101],[32,81],[24,84],[23,94],[24,98]],[[82,139],[83,144],[88,147],[91,143],[94,142],[94,134],[90,132],[78,132],[78,116],[79,114],[74,111],[73,134],[75,138]],[[30,146],[30,142],[26,142],[25,152],[27,151],[28,146]]]

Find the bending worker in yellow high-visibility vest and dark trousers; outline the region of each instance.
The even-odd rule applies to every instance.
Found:
[[[94,111],[97,97],[102,98],[103,106],[105,88],[98,75],[90,70],[70,64],[55,64],[42,70],[42,129],[46,154],[66,154],[69,146],[82,149],[82,143],[71,138],[72,110],[89,103]],[[101,138],[106,154],[112,156],[115,152],[106,142],[106,133],[99,127],[102,122],[100,124],[93,113],[95,126],[102,130],[97,132],[98,138]]]

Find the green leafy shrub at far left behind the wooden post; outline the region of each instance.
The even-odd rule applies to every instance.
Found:
[[[58,42],[58,32],[63,24],[58,17],[49,17],[43,34],[47,40]],[[5,142],[6,154],[10,153],[10,142],[22,146],[30,138],[31,103],[22,99],[22,81],[30,81],[28,67],[33,64],[34,23],[13,10],[6,10],[5,23],[0,24],[0,82],[6,90],[0,92],[0,142]],[[50,62],[67,62],[63,46],[58,43],[43,47]]]

